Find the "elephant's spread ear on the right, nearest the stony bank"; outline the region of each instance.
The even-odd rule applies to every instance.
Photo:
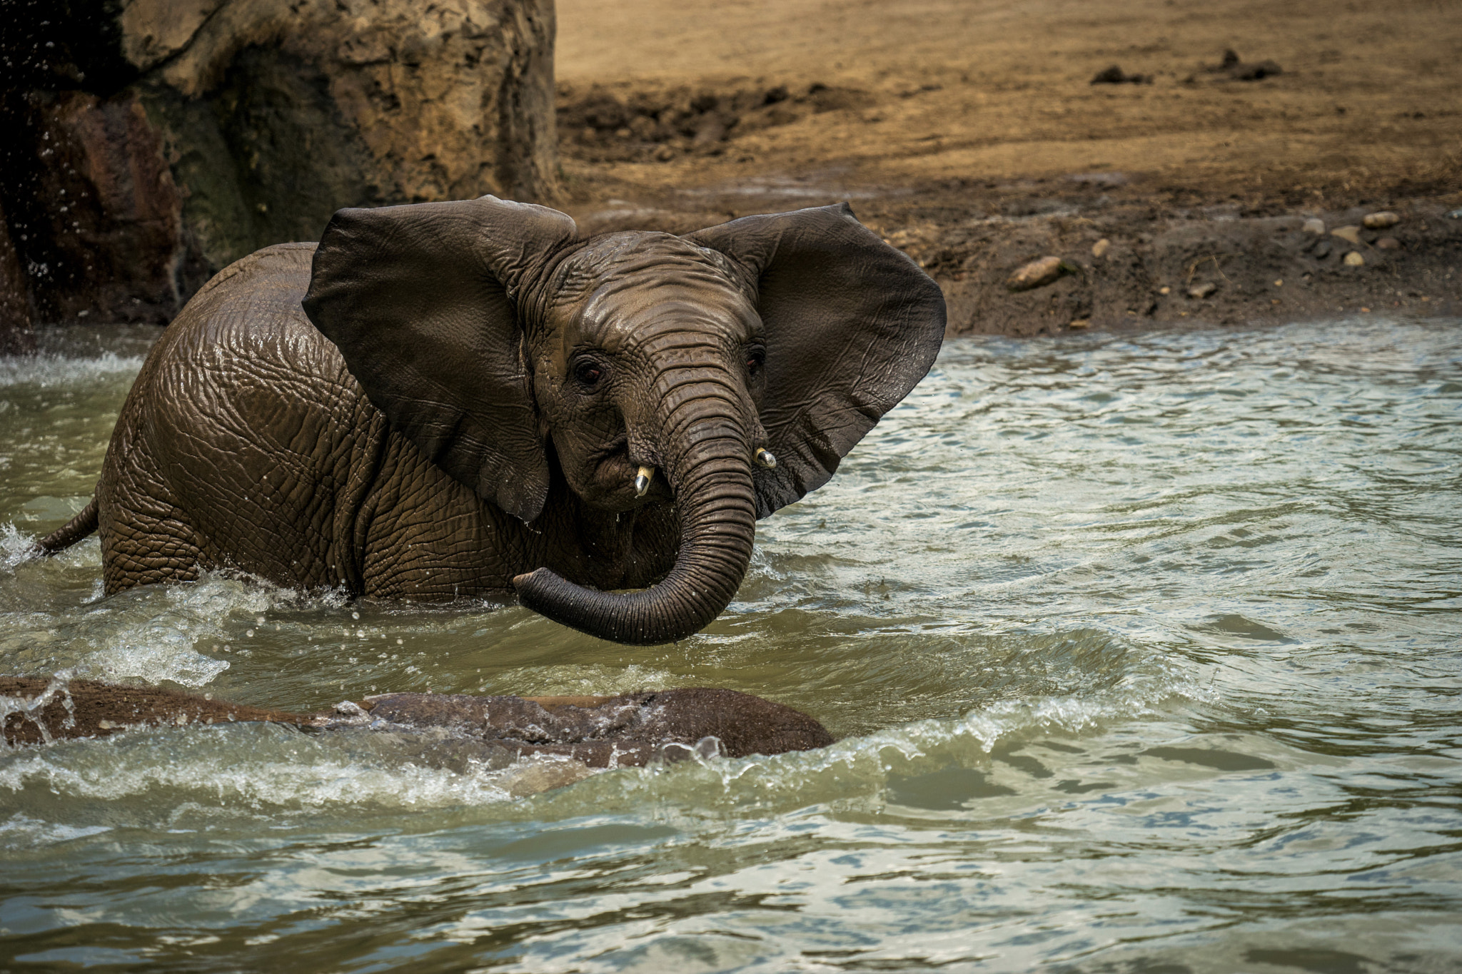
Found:
[[[757,517],[800,501],[928,372],[944,295],[846,203],[744,216],[687,237],[756,283],[766,327],[762,425],[772,470],[754,469]]]

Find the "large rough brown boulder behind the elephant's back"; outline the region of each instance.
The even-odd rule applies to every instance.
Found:
[[[342,206],[554,196],[551,0],[7,7],[0,206],[39,321],[165,321]]]

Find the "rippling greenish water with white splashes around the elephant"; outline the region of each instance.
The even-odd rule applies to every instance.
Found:
[[[0,753],[13,970],[1462,965],[1462,330],[958,340],[675,647],[213,577],[99,597],[139,334],[0,365],[0,672],[311,710],[721,685],[813,753],[535,793],[420,742]],[[130,345],[129,345],[130,343]],[[113,350],[102,355],[102,348]]]

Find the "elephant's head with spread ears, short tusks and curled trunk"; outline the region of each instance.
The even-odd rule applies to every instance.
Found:
[[[651,588],[513,580],[522,605],[635,644],[725,609],[756,520],[826,483],[944,334],[939,286],[846,204],[591,239],[494,197],[348,209],[304,310],[396,429],[525,523],[550,454],[589,507],[675,505]]]

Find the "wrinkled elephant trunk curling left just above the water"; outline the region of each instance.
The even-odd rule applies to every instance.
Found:
[[[694,635],[730,605],[756,534],[743,407],[719,381],[675,393],[678,404],[659,418],[680,518],[674,568],[652,588],[627,594],[583,588],[539,568],[513,580],[523,606],[601,640],[656,645]]]

